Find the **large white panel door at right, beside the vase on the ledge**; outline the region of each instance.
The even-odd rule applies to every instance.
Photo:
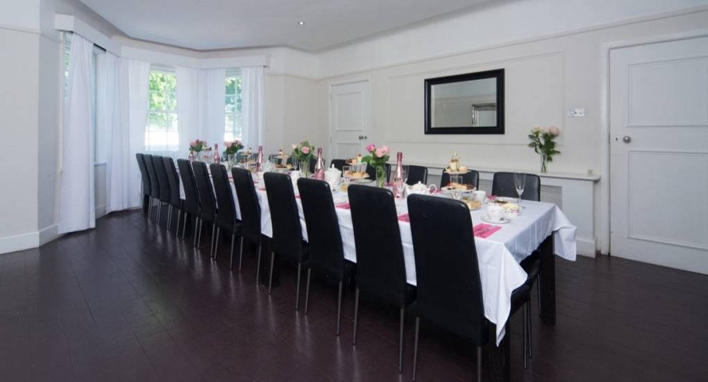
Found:
[[[610,52],[610,252],[708,274],[708,38]]]

